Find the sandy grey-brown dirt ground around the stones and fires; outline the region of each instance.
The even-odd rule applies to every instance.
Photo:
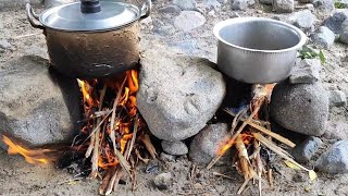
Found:
[[[172,35],[161,36],[153,33],[153,29],[161,25],[173,24],[173,15],[163,15],[157,9],[166,1],[156,1],[151,20],[142,24],[142,48],[156,47],[156,44],[167,45],[183,51],[183,53],[206,57],[215,61],[216,40],[212,35],[212,27],[219,21],[231,17],[229,5],[222,8],[219,12],[207,13],[207,23],[190,33],[175,32]],[[40,8],[38,8],[40,10]],[[240,12],[241,16],[268,16],[273,14],[270,7],[258,5],[247,12]],[[323,15],[316,13],[319,21]],[[23,35],[32,36],[23,37]],[[24,9],[12,9],[0,12],[0,39],[8,39],[13,46],[11,50],[0,52],[0,65],[12,58],[36,54],[47,57],[45,37],[40,30],[33,28],[25,17]],[[327,89],[340,89],[348,94],[348,56],[347,46],[335,44],[330,50],[324,50],[327,59],[326,69],[323,71],[324,85]],[[348,123],[346,108],[334,108],[331,110],[331,122]],[[327,130],[335,131],[330,126]],[[341,128],[340,138],[347,138],[348,126]],[[336,138],[323,138],[325,150]],[[314,160],[318,158],[314,157]],[[161,162],[152,160],[151,166],[158,166],[152,173],[146,173],[148,166],[140,164],[137,168],[136,191],[130,191],[130,185],[120,185],[117,193],[113,195],[236,195],[243,183],[243,177],[237,174],[231,166],[214,167],[206,171],[198,167],[195,175],[190,176],[194,164],[186,157],[178,158],[175,162]],[[313,162],[307,167],[311,168]],[[274,161],[275,184],[270,187],[266,181],[263,182],[263,195],[348,195],[348,174],[326,175],[319,173],[315,182],[310,182],[303,171],[296,171],[285,167],[281,159]],[[159,191],[153,185],[153,177],[161,172],[172,172],[173,184],[166,191]],[[213,172],[220,172],[231,179],[214,176]],[[76,180],[76,181],[74,181]],[[97,195],[99,181],[76,179],[65,170],[55,169],[54,166],[33,166],[24,161],[20,156],[9,156],[0,150],[0,195]],[[258,195],[254,186],[249,186],[243,195]]]

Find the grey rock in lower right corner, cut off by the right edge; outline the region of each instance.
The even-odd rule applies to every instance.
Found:
[[[326,173],[348,172],[348,139],[335,143],[315,162],[319,171]]]

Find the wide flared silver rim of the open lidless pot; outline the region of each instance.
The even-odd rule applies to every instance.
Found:
[[[232,42],[226,41],[224,38],[222,38],[220,36],[220,32],[223,27],[228,26],[228,25],[233,25],[233,24],[244,23],[244,22],[272,22],[275,24],[279,24],[282,26],[287,27],[289,30],[295,32],[299,37],[299,41],[297,45],[295,45],[290,48],[285,48],[285,49],[279,49],[279,50],[260,50],[260,49],[251,49],[251,48],[245,48],[241,46],[234,45]],[[281,52],[294,51],[294,50],[301,48],[307,42],[307,39],[308,39],[306,34],[302,30],[300,30],[299,28],[297,28],[296,26],[287,24],[285,22],[265,19],[265,17],[235,17],[235,19],[225,20],[225,21],[217,23],[214,26],[213,34],[215,35],[215,37],[220,41],[224,42],[227,46],[231,46],[231,47],[234,47],[234,48],[237,48],[240,50],[250,51],[250,52],[262,52],[262,53],[281,53]]]

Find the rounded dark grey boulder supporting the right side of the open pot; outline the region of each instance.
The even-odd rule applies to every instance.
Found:
[[[314,84],[275,85],[271,99],[272,119],[281,126],[304,135],[320,136],[325,132],[328,95]]]

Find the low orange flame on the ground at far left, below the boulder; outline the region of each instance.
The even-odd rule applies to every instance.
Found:
[[[9,155],[22,155],[25,160],[32,164],[47,164],[50,162],[50,160],[47,159],[47,156],[45,155],[45,152],[52,151],[50,149],[29,150],[14,144],[9,137],[4,135],[2,136],[2,140],[9,146]]]

